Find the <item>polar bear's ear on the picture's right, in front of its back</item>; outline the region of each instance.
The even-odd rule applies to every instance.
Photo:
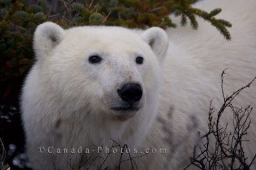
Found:
[[[151,46],[155,55],[162,61],[166,55],[169,42],[165,31],[158,27],[152,27],[144,31],[142,37]]]

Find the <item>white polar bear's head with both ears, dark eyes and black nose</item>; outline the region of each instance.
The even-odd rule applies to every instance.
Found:
[[[60,105],[115,120],[148,114],[148,105],[157,104],[167,45],[159,28],[138,34],[119,27],[63,30],[46,22],[34,36],[37,64]]]

